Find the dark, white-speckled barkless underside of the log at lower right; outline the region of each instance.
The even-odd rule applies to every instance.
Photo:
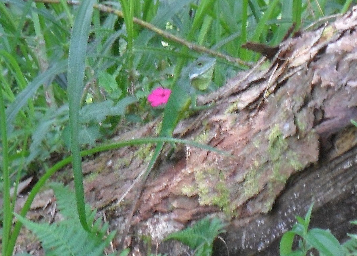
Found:
[[[230,255],[279,255],[282,234],[296,223],[296,215],[305,216],[312,202],[310,227],[330,229],[340,241],[348,238],[347,233],[356,234],[356,226],[350,224],[356,219],[356,163],[357,147],[332,161],[322,160],[293,178],[269,214],[249,223],[233,221],[222,236]],[[215,242],[214,255],[228,255],[222,242]]]

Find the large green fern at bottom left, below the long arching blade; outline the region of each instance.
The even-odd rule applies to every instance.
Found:
[[[96,211],[86,205],[86,217],[92,232],[87,232],[80,224],[73,191],[61,184],[51,184],[55,193],[59,212],[64,220],[53,224],[36,223],[16,215],[26,227],[41,241],[46,255],[103,255],[104,248],[114,238],[115,232],[106,235],[108,223],[101,227],[101,220],[94,220]]]

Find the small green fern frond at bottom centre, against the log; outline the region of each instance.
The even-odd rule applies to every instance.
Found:
[[[177,231],[166,237],[165,240],[176,239],[195,250],[196,256],[210,256],[215,238],[225,232],[218,218],[210,220],[208,217],[197,221],[192,227]]]

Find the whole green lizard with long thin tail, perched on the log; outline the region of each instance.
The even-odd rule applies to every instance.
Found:
[[[195,62],[188,65],[182,70],[181,76],[174,85],[169,100],[165,106],[164,118],[162,120],[161,131],[159,137],[172,137],[172,133],[177,126],[178,121],[183,117],[185,112],[192,106],[193,110],[202,109],[196,105],[196,90],[206,90],[211,82],[213,75],[213,68],[216,64],[216,59],[210,57],[201,57]],[[144,184],[153,169],[160,152],[164,147],[164,142],[158,142],[155,147],[154,154],[151,157],[149,165],[147,166],[144,174],[142,175],[142,186],[138,192],[131,212],[127,218],[126,226],[124,229],[124,242],[125,236],[129,231],[131,218],[137,209],[140,195],[142,193]],[[123,243],[122,243],[123,244]]]

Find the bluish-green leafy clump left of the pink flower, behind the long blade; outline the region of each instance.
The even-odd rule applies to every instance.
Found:
[[[103,139],[103,134],[110,129],[111,124],[108,117],[124,116],[126,107],[136,101],[136,97],[129,96],[116,103],[107,99],[84,105],[79,110],[79,141],[81,145],[95,146],[95,143]],[[26,159],[27,163],[36,157],[40,157],[41,160],[48,159],[50,152],[62,151],[64,145],[70,149],[68,105],[63,105],[57,110],[47,109],[44,114],[38,112],[36,118],[39,120],[39,125],[32,132],[32,143],[30,154]]]

